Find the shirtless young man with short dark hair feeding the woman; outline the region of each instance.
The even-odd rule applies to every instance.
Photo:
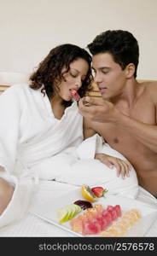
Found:
[[[131,162],[139,184],[157,197],[157,83],[137,82],[137,39],[131,32],[107,31],[88,48],[102,101],[79,101],[84,137],[99,133]]]

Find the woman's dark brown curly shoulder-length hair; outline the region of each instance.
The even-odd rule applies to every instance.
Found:
[[[64,79],[63,75],[70,70],[70,64],[78,58],[84,59],[89,65],[88,73],[78,90],[78,94],[82,97],[91,90],[91,81],[93,79],[91,74],[91,56],[83,49],[73,44],[61,44],[49,51],[49,55],[40,62],[36,72],[30,76],[30,87],[34,90],[41,88],[41,91],[52,97],[55,91],[55,86],[61,84]],[[62,73],[63,67],[66,71]],[[58,86],[59,87],[59,86]],[[63,104],[68,107],[72,101],[63,101]]]

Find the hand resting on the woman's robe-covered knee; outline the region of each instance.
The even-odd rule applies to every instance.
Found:
[[[100,160],[103,164],[109,168],[113,166],[117,169],[117,176],[121,175],[122,178],[130,177],[131,164],[127,160],[121,160],[117,157],[110,156],[108,154],[96,153],[95,159]]]

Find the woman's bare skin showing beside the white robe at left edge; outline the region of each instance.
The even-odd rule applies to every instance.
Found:
[[[3,213],[5,208],[9,205],[9,201],[14,193],[14,186],[8,181],[0,177],[0,215]]]

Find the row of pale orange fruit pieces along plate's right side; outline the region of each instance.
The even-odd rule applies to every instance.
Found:
[[[108,230],[105,230],[100,236],[125,236],[132,225],[136,224],[139,218],[142,218],[141,212],[137,209],[131,209],[125,212],[116,224],[113,224]]]

